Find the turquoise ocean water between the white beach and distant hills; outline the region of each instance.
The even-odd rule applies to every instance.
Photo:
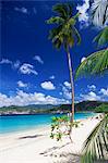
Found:
[[[74,118],[81,120],[93,115],[94,113],[75,113]],[[51,123],[52,116],[61,116],[61,114],[0,116],[0,134],[26,130],[34,127],[48,125]]]

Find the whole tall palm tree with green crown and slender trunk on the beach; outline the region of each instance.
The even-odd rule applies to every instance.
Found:
[[[74,16],[72,15],[72,7],[69,3],[60,3],[56,4],[52,8],[52,11],[57,13],[58,16],[52,16],[47,21],[47,24],[55,24],[53,28],[49,32],[49,39],[51,39],[52,45],[60,49],[64,48],[68,55],[68,64],[70,72],[70,82],[72,89],[72,115],[71,115],[71,124],[74,120],[74,79],[73,79],[73,71],[72,71],[72,62],[70,49],[81,42],[81,37],[75,28],[76,18],[79,13]],[[71,133],[72,125],[70,127]]]

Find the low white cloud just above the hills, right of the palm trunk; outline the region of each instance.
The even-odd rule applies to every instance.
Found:
[[[86,101],[96,101],[101,100],[99,96],[97,96],[94,91],[89,91],[87,95],[80,95],[82,97],[82,100]]]

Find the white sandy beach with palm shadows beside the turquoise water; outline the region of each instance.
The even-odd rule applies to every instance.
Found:
[[[44,126],[22,133],[0,136],[0,163],[80,163],[82,145],[99,120],[82,120],[73,128],[72,139],[57,142],[49,138],[50,127]]]

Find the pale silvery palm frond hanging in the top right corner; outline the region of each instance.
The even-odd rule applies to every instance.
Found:
[[[108,24],[108,1],[94,0],[92,3],[92,21],[96,26],[106,26]]]

